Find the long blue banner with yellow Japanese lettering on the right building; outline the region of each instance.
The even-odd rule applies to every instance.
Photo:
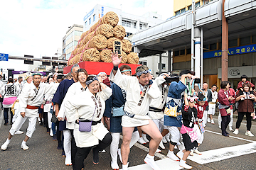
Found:
[[[245,53],[256,52],[256,44],[245,45],[240,47],[233,47],[228,49],[228,55],[241,55]],[[221,57],[221,50],[215,50],[210,52],[203,52],[203,58]]]

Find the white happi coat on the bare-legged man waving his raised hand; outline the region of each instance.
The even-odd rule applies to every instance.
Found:
[[[124,111],[134,115],[133,118],[129,116],[122,116],[122,126],[124,127],[136,127],[149,124],[149,103],[152,98],[158,98],[160,95],[159,88],[156,83],[153,83],[150,88],[146,89],[146,94],[141,101],[141,86],[137,77],[129,77],[121,74],[120,70],[117,70],[117,74],[114,76],[113,71],[110,73],[110,79],[117,84],[121,89],[127,92],[126,103],[124,105]],[[144,87],[143,87],[144,88]]]

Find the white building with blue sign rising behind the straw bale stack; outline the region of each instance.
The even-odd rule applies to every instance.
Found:
[[[97,4],[83,18],[83,31],[85,32],[89,30],[90,27],[93,26],[93,24],[97,23],[97,21],[99,21],[100,18],[102,18],[102,16],[104,16],[109,11],[117,13],[117,16],[119,17],[118,25],[122,25],[124,27],[127,33],[126,37],[128,38],[128,40],[132,39],[132,35],[134,33],[138,33],[141,30],[151,28],[152,26],[163,22],[163,20],[161,19],[161,15],[154,12],[147,12],[143,16],[136,16],[131,13],[124,13],[122,9]],[[164,53],[164,55],[166,55],[167,53]],[[168,57],[168,55],[166,55],[166,57]],[[168,58],[166,57],[163,57],[162,69],[163,71],[167,72]],[[159,72],[159,65],[156,64],[158,62],[156,61],[158,60],[158,58],[159,57],[155,57],[154,55],[147,56],[141,58],[139,60],[139,64],[145,64],[147,67],[149,67],[149,69],[151,69],[151,72],[154,74],[154,76],[156,76],[156,73]]]

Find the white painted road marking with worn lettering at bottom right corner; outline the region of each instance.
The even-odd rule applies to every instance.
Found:
[[[202,152],[202,155],[194,154],[193,157],[189,156],[193,162],[198,164],[207,164],[210,162],[218,162],[224,159],[239,157],[245,154],[252,154],[256,152],[256,142],[245,145],[238,145],[234,147],[224,147],[220,149],[213,149]]]

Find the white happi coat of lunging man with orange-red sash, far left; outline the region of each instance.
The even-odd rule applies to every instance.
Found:
[[[18,96],[19,113],[25,112],[26,117],[38,117],[38,109],[28,109],[26,107],[27,105],[40,107],[43,103],[43,96],[49,94],[52,87],[53,84],[44,83],[40,83],[38,89],[33,83],[23,86],[21,94]]]

